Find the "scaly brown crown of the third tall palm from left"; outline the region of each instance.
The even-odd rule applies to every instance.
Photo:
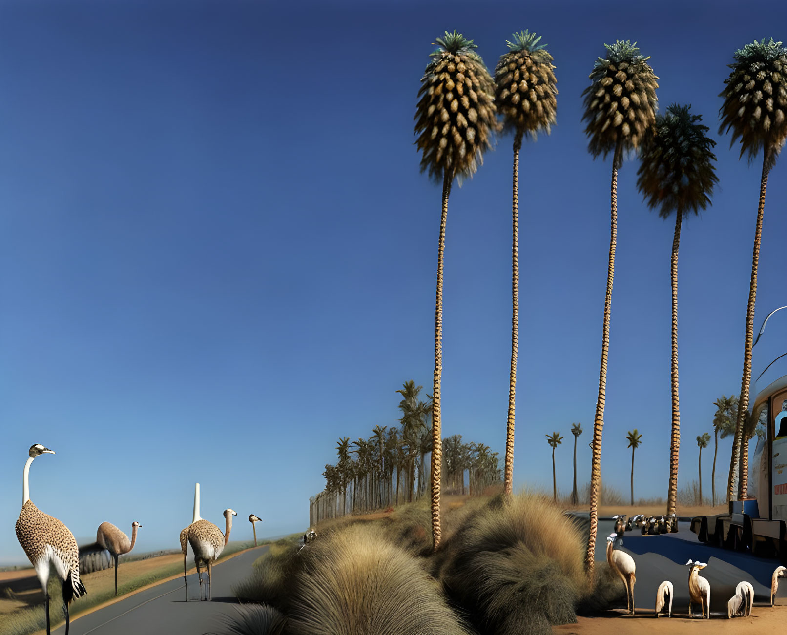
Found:
[[[607,57],[599,57],[584,91],[587,121],[585,133],[593,158],[637,149],[656,120],[656,88],[659,79],[643,57],[637,42],[604,44]]]

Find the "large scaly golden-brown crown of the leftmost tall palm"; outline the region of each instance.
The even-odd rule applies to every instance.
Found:
[[[418,91],[416,145],[422,172],[438,181],[445,174],[462,179],[475,173],[501,127],[494,83],[472,40],[445,31],[436,43]]]

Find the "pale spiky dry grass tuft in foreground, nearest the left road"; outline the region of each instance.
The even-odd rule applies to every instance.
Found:
[[[303,556],[290,602],[298,635],[464,635],[419,560],[355,524],[317,540]]]

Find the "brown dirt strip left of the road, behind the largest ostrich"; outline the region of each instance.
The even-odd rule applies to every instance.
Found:
[[[136,578],[146,574],[152,574],[163,567],[172,564],[183,564],[183,556],[172,554],[170,556],[158,556],[147,560],[135,560],[126,562],[120,560],[118,567],[118,585],[122,585],[124,579]],[[83,582],[90,589],[91,593],[99,593],[106,589],[115,588],[115,569],[104,569],[94,573],[84,574]],[[0,615],[16,611],[19,608],[40,604],[43,601],[43,593],[39,585],[35,571],[30,569],[20,569],[17,571],[0,572]]]

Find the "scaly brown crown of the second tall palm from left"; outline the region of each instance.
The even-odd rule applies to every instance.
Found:
[[[557,112],[553,58],[538,44],[541,36],[520,31],[513,38],[494,71],[497,110],[507,130],[533,138],[539,131],[549,134]]]

